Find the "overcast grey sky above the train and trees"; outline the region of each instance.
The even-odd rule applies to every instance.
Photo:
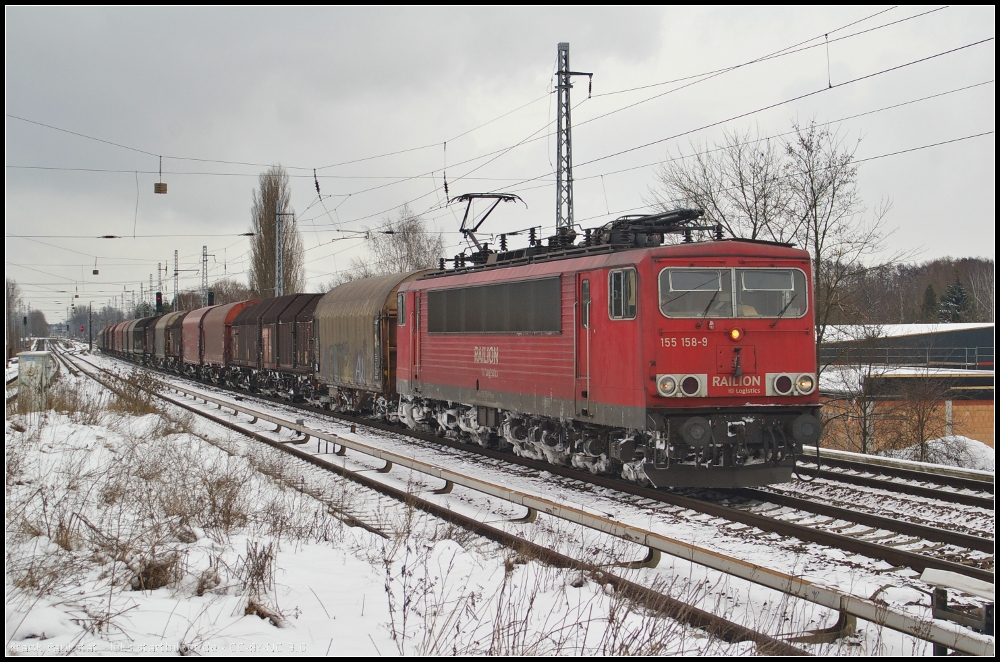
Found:
[[[175,249],[182,289],[200,282],[203,245],[210,281],[245,280],[238,235],[258,174],[279,163],[310,290],[364,254],[350,231],[404,203],[459,252],[443,171],[452,196],[524,198],[484,231],[552,227],[560,41],[594,74],[592,98],[586,78],[572,92],[581,225],[641,213],[656,164],[724,130],[815,120],[872,159],[860,189],[869,209],[892,201],[889,249],[993,258],[995,9],[936,8],[7,7],[6,273],[50,321],[66,292],[103,305],[150,274],[155,288]],[[161,155],[167,195],[153,193]],[[127,238],[91,238],[108,234]]]

